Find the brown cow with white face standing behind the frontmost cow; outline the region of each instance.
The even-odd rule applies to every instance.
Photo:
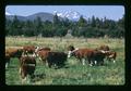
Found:
[[[35,53],[35,51],[38,49],[38,47],[35,46],[24,46],[23,47],[23,54],[27,54],[27,53]]]

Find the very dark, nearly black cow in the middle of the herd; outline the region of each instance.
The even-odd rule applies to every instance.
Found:
[[[64,66],[64,62],[67,61],[67,54],[64,52],[48,52],[48,66],[51,67],[56,65],[58,67]]]

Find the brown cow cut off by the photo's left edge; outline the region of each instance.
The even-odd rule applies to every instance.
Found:
[[[22,53],[23,53],[22,49],[14,49],[14,48],[5,49],[5,68],[9,66],[11,57],[20,58]]]

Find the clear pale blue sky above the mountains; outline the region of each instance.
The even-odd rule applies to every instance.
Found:
[[[86,17],[92,15],[118,21],[124,14],[122,5],[7,5],[5,12],[13,15],[27,16],[38,12],[53,13],[53,11],[76,11]]]

